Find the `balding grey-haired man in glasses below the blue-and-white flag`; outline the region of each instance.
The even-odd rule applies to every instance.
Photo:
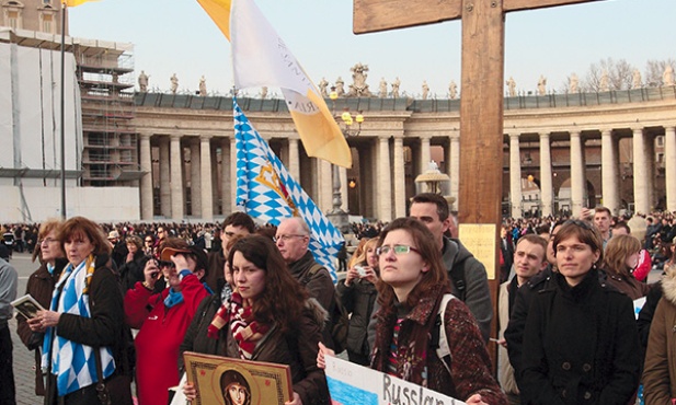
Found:
[[[335,306],[335,288],[329,270],[318,264],[309,251],[310,228],[298,217],[287,218],[279,222],[275,243],[286,262],[289,271],[300,284],[306,286],[310,297],[314,298],[329,314],[333,314]],[[332,325],[329,320],[328,325]],[[333,348],[331,327],[322,329],[323,339],[328,347]]]

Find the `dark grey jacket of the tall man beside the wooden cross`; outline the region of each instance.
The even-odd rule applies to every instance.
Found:
[[[477,319],[477,323],[479,323],[483,340],[489,342],[491,320],[493,320],[493,303],[491,302],[485,267],[457,239],[444,238],[442,257],[451,279],[451,293],[465,301],[465,304]],[[459,268],[458,273],[465,274],[463,293],[458,291],[457,282],[454,280],[452,274],[456,270],[451,269],[455,267]]]

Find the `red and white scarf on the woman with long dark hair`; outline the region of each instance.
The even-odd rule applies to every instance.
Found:
[[[244,360],[250,360],[256,347],[256,342],[265,336],[270,326],[259,324],[256,321],[251,320],[252,306],[244,308],[242,302],[242,297],[233,292],[230,301],[230,329],[239,346],[240,357]],[[218,313],[216,316],[218,316]]]

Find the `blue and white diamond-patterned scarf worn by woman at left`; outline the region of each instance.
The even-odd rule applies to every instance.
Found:
[[[69,264],[61,274],[51,296],[51,311],[91,317],[87,278],[94,274],[94,259],[90,256],[73,269]],[[65,284],[59,294],[60,286]],[[60,297],[59,297],[60,296]],[[56,337],[56,339],[54,338]],[[96,362],[91,346],[81,345],[56,334],[56,327],[48,327],[43,344],[43,369],[48,366],[49,347],[51,347],[51,373],[57,379],[58,396],[64,396],[99,381]],[[101,349],[101,368],[106,379],[115,371],[113,351],[108,347]]]

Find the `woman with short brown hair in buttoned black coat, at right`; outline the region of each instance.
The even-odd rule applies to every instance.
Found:
[[[559,273],[532,298],[526,321],[522,403],[633,403],[640,369],[633,304],[598,280],[600,234],[566,221],[553,247]]]

